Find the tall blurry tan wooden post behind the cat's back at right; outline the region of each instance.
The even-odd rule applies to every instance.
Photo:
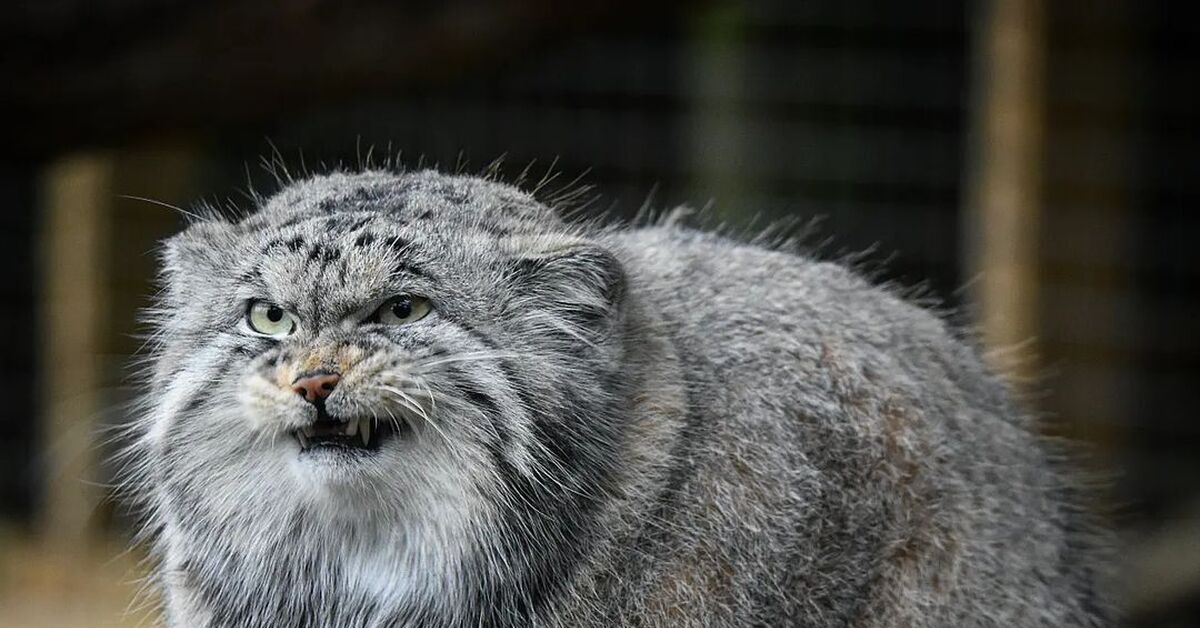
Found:
[[[983,7],[964,258],[992,366],[1027,381],[1039,327],[1043,7],[1040,0]]]

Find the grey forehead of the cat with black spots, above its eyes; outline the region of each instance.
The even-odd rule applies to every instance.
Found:
[[[330,174],[289,185],[236,226],[246,243],[238,273],[263,298],[338,311],[404,282],[468,273],[498,240],[558,225],[548,208],[494,181]]]

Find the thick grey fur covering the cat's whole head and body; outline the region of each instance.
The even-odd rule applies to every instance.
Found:
[[[164,249],[132,486],[170,626],[1110,626],[1030,415],[842,265],[434,172],[260,205]],[[361,322],[398,293],[432,313]],[[302,459],[313,365],[330,414],[412,432]]]

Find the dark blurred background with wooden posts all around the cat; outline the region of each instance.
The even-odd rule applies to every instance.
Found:
[[[292,169],[552,169],[821,219],[1085,442],[1128,627],[1200,626],[1200,26],[1103,0],[42,0],[0,10],[0,626],[144,626],[108,488],[155,245]],[[277,152],[277,155],[276,155]]]

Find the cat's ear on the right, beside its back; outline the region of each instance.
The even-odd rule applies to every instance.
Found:
[[[510,240],[512,268],[524,301],[592,331],[606,333],[619,318],[625,270],[600,245],[571,237]]]

